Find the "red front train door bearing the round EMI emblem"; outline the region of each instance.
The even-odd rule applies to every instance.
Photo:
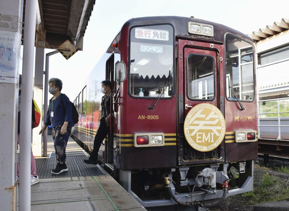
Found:
[[[179,40],[180,165],[224,160],[220,52],[222,45]]]

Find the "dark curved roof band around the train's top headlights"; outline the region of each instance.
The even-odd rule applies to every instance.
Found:
[[[190,34],[188,33],[188,22],[195,22],[200,24],[208,24],[214,26],[214,36],[208,37],[203,35],[196,35],[196,34]],[[214,23],[207,20],[197,19],[197,18],[188,18],[188,17],[179,17],[179,16],[154,16],[154,17],[141,17],[141,18],[132,18],[128,20],[125,24],[123,24],[123,27],[135,27],[135,26],[144,26],[144,25],[152,25],[152,24],[170,24],[174,28],[175,37],[184,38],[184,39],[197,39],[200,41],[205,42],[214,42],[214,43],[223,43],[224,42],[224,36],[226,33],[232,33],[248,42],[253,44],[253,40],[251,37],[243,34],[242,32],[239,32],[235,29],[232,29],[230,27],[227,27],[223,24]],[[119,42],[120,40],[120,33],[114,38],[115,42]],[[111,45],[107,49],[107,53],[115,52],[115,48]]]

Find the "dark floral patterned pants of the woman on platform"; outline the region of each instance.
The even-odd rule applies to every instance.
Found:
[[[52,138],[54,140],[54,149],[57,163],[63,164],[63,162],[66,160],[65,149],[72,127],[68,127],[66,133],[63,135],[60,133],[61,127],[62,125],[52,127]]]

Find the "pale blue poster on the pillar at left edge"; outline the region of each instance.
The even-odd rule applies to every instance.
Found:
[[[21,34],[0,31],[0,83],[18,83]]]

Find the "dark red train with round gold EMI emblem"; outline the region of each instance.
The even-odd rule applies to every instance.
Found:
[[[254,55],[250,37],[222,24],[130,19],[76,93],[71,137],[91,153],[110,80],[113,121],[98,162],[146,209],[211,208],[252,191]]]

